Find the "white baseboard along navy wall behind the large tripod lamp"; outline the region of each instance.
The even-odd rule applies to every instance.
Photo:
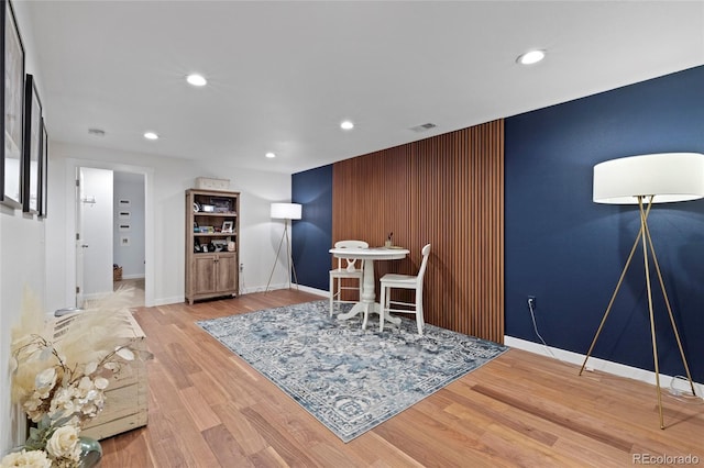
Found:
[[[506,346],[527,350],[529,353],[539,354],[570,364],[576,364],[578,366],[582,366],[582,364],[584,363],[584,358],[586,357],[586,355],[583,354],[554,348],[551,346],[543,346],[539,343],[528,342],[526,339],[515,338],[513,336],[504,336],[504,344]],[[597,357],[590,357],[590,360],[586,363],[585,370],[600,370],[614,376],[640,380],[642,382],[650,383],[651,386],[656,385],[656,372],[639,369],[637,367],[626,366],[624,364],[618,364],[610,360],[600,359]],[[672,379],[672,376],[660,374],[660,387],[663,391],[670,391]],[[679,382],[675,388],[684,391],[690,391],[689,383],[688,387],[684,388],[682,387],[682,382]],[[696,390],[696,394],[698,397],[702,398],[704,395],[704,385],[694,382],[694,390]]]

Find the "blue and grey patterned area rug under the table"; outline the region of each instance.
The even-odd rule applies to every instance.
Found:
[[[405,317],[364,331],[328,301],[197,323],[345,443],[508,349],[429,324],[419,336]]]

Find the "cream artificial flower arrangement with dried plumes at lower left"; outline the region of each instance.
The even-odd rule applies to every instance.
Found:
[[[51,330],[31,294],[24,301],[12,331],[12,400],[35,426],[0,467],[78,467],[80,431],[102,410],[110,377],[140,357],[121,333],[129,326],[119,313],[123,300],[118,291]]]

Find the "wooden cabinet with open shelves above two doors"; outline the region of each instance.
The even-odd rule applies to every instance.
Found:
[[[240,293],[240,193],[186,190],[186,300]]]

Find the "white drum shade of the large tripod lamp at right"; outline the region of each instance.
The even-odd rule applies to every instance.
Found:
[[[653,203],[703,198],[704,155],[660,153],[594,166],[594,202],[638,204],[638,197],[650,196]]]

